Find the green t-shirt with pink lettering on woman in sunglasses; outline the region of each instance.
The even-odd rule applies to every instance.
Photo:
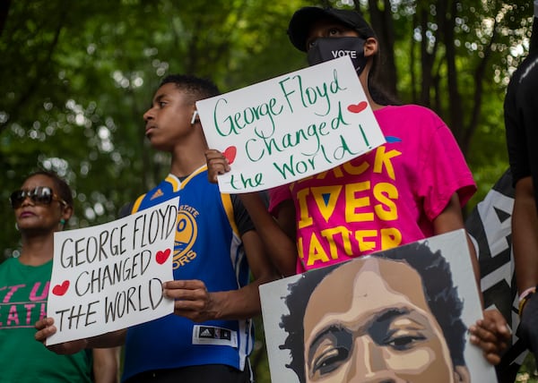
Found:
[[[47,314],[52,260],[33,267],[0,264],[0,383],[91,382],[91,355],[58,355],[34,338]]]

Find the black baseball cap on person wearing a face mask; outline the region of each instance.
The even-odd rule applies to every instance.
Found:
[[[290,36],[291,44],[297,49],[306,52],[308,33],[312,24],[326,18],[342,22],[351,29],[357,30],[361,38],[372,38],[376,36],[369,23],[358,12],[347,9],[306,6],[300,8],[291,16],[290,25],[288,26],[288,36]]]

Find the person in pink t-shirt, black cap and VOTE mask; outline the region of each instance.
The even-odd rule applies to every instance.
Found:
[[[319,64],[351,52],[386,143],[342,166],[270,191],[269,210],[257,193],[241,194],[268,253],[283,276],[351,260],[373,251],[464,228],[461,208],[476,191],[452,132],[433,111],[395,106],[377,89],[379,47],[359,13],[305,7],[293,14],[291,43]],[[230,169],[216,150],[206,153],[210,178]],[[468,239],[474,275],[480,278]],[[499,362],[509,332],[499,311],[484,311],[472,342]]]

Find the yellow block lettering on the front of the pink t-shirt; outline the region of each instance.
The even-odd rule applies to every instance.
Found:
[[[402,233],[394,228],[378,228],[373,225],[377,219],[380,221],[395,221],[399,218],[397,200],[399,191],[395,184],[395,168],[393,159],[402,153],[395,149],[386,149],[380,146],[375,149],[375,155],[355,158],[341,166],[310,176],[323,180],[325,177],[345,179],[348,175],[365,174],[367,171],[374,174],[386,174],[386,181],[372,182],[370,177],[358,183],[345,183],[329,186],[312,186],[297,191],[296,206],[299,209],[298,228],[305,229],[314,225],[316,219],[331,222],[336,214],[345,222],[334,222],[338,226],[320,228],[306,234],[307,237],[298,237],[297,246],[300,260],[306,262],[308,267],[316,263],[327,263],[342,256],[356,257],[376,250],[386,250],[399,246],[402,243]],[[369,162],[368,159],[372,162]],[[361,161],[361,162],[360,162]],[[390,179],[390,180],[389,180]],[[295,183],[304,182],[301,180]],[[342,203],[344,211],[336,211]],[[322,221],[323,222],[323,221]],[[371,228],[350,230],[355,222],[372,223]],[[324,226],[324,225],[320,225]],[[330,226],[330,225],[329,225]]]

